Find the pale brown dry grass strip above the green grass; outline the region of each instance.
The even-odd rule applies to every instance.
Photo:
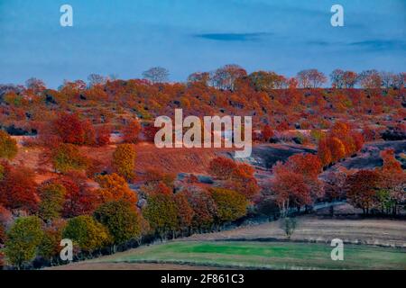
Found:
[[[182,240],[227,240],[227,239],[284,239],[279,222],[269,222],[208,234],[196,234]],[[406,225],[404,220],[337,220],[305,216],[292,240],[330,242],[340,238],[348,243],[406,247]]]

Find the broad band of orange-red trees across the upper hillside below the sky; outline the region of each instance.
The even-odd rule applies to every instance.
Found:
[[[107,81],[91,87],[78,80],[65,83],[60,90],[45,89],[39,94],[32,89],[15,88],[0,94],[0,121],[4,129],[14,134],[39,132],[40,136],[58,136],[58,130],[47,131],[50,123],[61,113],[78,114],[79,122],[88,121],[83,125],[89,127],[87,141],[101,146],[108,140],[108,131],[124,133],[132,119],[142,121],[143,134],[153,132],[151,121],[158,115],[171,117],[176,108],[182,108],[185,116],[253,115],[254,130],[264,124],[277,130],[325,130],[337,119],[356,120],[358,128],[368,125],[384,129],[383,126],[397,125],[402,119],[401,90],[297,89],[296,79],[285,84],[282,79],[271,72],[253,73],[235,80],[234,91],[196,81],[153,85],[139,79]],[[272,89],[286,85],[287,89]],[[378,121],[380,126],[374,125]],[[69,124],[65,126],[69,132]],[[139,129],[139,125],[133,126]],[[83,142],[80,130],[83,129],[78,129],[78,136],[73,136]]]

